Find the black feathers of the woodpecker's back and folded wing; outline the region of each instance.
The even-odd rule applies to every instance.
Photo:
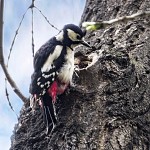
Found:
[[[52,78],[56,79],[57,73],[61,66],[64,63],[64,56],[65,56],[65,48],[63,48],[62,53],[60,56],[57,58],[57,61],[54,60],[54,68],[51,69],[49,72],[41,72],[41,68],[43,67],[45,61],[49,57],[50,54],[53,53],[55,47],[57,45],[61,45],[60,42],[56,41],[56,38],[50,39],[47,43],[45,43],[35,54],[34,57],[34,73],[31,76],[31,84],[30,84],[30,93],[31,94],[40,94],[43,93],[43,90],[46,90],[49,88],[50,85],[45,84],[48,81],[51,81]],[[49,75],[51,73],[55,72],[54,75],[51,75],[48,78],[45,78],[42,76],[42,74]],[[40,87],[37,83],[40,82],[41,84],[44,85],[44,87]],[[40,85],[41,85],[40,84]]]

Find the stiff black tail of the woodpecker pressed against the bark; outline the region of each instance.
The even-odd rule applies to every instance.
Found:
[[[57,122],[52,98],[48,94],[45,94],[42,99],[42,113],[46,124],[46,134],[48,134],[53,130]]]

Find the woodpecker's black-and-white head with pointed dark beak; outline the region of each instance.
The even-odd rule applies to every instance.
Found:
[[[87,42],[83,40],[85,34],[85,31],[82,31],[78,26],[74,24],[67,24],[56,36],[56,39],[71,48],[79,44],[91,47]]]

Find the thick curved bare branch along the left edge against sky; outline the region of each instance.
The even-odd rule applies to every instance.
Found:
[[[11,87],[13,88],[14,92],[21,98],[21,100],[25,103],[28,98],[26,98],[19,88],[17,87],[15,81],[10,76],[8,69],[5,65],[4,55],[3,55],[3,8],[4,8],[4,0],[0,0],[0,65],[4,71],[4,74],[10,83]]]

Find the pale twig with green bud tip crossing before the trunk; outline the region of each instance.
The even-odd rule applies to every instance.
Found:
[[[150,11],[141,11],[141,12],[137,12],[131,16],[123,16],[123,17],[119,17],[119,18],[112,19],[109,21],[83,22],[82,27],[85,27],[86,30],[99,30],[99,29],[104,29],[107,26],[110,26],[112,24],[132,21],[135,18],[142,17],[142,16],[150,16]]]

